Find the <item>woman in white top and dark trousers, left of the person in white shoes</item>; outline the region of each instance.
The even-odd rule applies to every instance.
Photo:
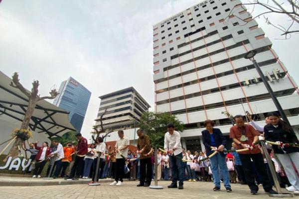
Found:
[[[97,142],[97,146],[96,146],[96,158],[94,159],[94,169],[93,169],[93,174],[92,174],[92,181],[90,182],[90,184],[93,184],[94,182],[98,183],[99,182],[99,178],[100,178],[100,170],[101,170],[101,164],[104,162],[105,159],[105,151],[106,151],[106,144],[104,143],[104,140],[102,137],[98,137],[96,139]],[[98,168],[98,175],[96,176],[96,170],[97,170],[97,162],[98,162],[98,158],[100,158],[100,164],[99,164],[99,168]]]

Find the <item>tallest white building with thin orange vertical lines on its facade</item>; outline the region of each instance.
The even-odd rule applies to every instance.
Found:
[[[184,123],[182,144],[189,150],[204,150],[206,119],[228,135],[231,122],[222,111],[244,115],[248,110],[264,125],[267,112],[277,110],[253,63],[244,59],[252,49],[298,132],[298,86],[240,3],[205,0],[153,25],[154,108]]]

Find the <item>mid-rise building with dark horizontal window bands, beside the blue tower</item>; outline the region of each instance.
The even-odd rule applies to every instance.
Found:
[[[134,128],[143,112],[149,110],[149,103],[133,88],[129,87],[99,97],[100,108],[96,126],[100,130],[100,118],[103,115],[103,127],[106,131]]]

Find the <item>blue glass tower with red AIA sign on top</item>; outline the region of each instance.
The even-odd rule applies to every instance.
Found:
[[[59,95],[54,99],[53,104],[69,111],[68,117],[71,124],[77,132],[80,132],[91,92],[70,77],[61,83],[58,93]]]

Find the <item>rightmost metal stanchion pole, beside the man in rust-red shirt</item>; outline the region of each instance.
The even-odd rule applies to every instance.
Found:
[[[277,176],[276,176],[275,168],[272,164],[272,160],[271,160],[270,155],[267,151],[266,144],[265,144],[265,142],[261,142],[260,144],[262,146],[262,150],[264,152],[264,155],[266,156],[267,163],[269,165],[270,172],[271,172],[271,175],[273,177],[274,185],[275,185],[276,191],[278,193],[278,194],[269,194],[269,196],[270,197],[275,197],[275,198],[292,198],[293,197],[292,194],[282,192],[281,187],[279,185],[279,181],[278,181]]]

